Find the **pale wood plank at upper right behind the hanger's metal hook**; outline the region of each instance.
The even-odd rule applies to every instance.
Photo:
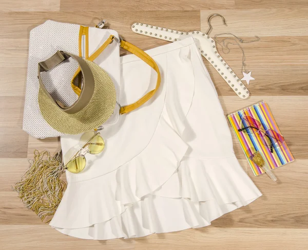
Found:
[[[240,37],[274,37],[308,35],[307,10],[296,9],[243,9],[243,10],[201,10],[201,31],[208,28],[207,17],[215,12],[223,15],[228,26],[220,17],[211,20],[210,35],[223,32],[235,33]],[[226,37],[228,35],[225,35]]]

